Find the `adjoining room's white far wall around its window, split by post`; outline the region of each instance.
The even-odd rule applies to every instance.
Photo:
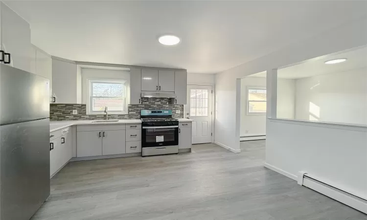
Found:
[[[295,80],[278,79],[277,114],[284,118],[294,118]],[[245,77],[241,79],[241,131],[240,136],[265,135],[266,115],[247,115],[248,87],[265,87],[264,77]],[[246,132],[248,131],[248,132]]]

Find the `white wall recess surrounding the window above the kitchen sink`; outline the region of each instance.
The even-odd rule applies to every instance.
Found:
[[[87,104],[88,96],[88,79],[101,80],[126,80],[127,83],[127,103],[130,103],[130,71],[111,70],[111,69],[90,69],[82,68],[82,103]]]

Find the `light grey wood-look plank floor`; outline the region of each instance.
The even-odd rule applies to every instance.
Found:
[[[32,220],[367,220],[264,168],[264,140],[241,150],[71,162]]]

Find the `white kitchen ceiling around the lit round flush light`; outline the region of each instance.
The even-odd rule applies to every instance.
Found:
[[[351,20],[367,1],[5,1],[31,41],[75,61],[217,73]],[[182,39],[158,43],[162,34]]]

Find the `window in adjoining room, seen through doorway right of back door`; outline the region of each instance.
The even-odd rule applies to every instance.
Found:
[[[266,88],[249,87],[247,94],[247,115],[265,115]]]

